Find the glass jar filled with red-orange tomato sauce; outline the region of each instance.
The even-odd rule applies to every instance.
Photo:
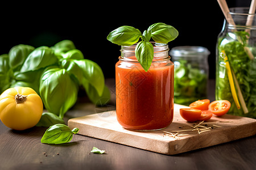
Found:
[[[121,46],[115,65],[117,121],[123,128],[160,130],[174,117],[174,63],[168,45],[151,42],[154,59],[144,71],[135,58],[135,45]]]

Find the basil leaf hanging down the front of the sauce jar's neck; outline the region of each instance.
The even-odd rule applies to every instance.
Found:
[[[150,42],[141,41],[135,47],[135,57],[145,71],[147,71],[154,58],[154,47]]]

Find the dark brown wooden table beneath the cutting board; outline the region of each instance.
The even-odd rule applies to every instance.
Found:
[[[113,90],[114,80],[106,82]],[[214,100],[214,88],[209,91],[209,99]],[[104,108],[78,100],[64,120],[114,109],[113,99],[114,91],[112,103]],[[82,135],[73,135],[71,142],[62,145],[46,145],[40,142],[46,129],[15,131],[0,122],[0,169],[256,169],[255,135],[168,156]],[[106,154],[90,153],[94,146]]]

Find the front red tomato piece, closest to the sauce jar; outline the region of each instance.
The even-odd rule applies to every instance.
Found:
[[[195,122],[201,117],[201,110],[192,108],[180,109],[180,116],[188,122]]]

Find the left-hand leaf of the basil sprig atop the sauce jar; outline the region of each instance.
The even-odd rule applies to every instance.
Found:
[[[141,37],[141,31],[134,27],[122,26],[110,32],[107,39],[117,45],[133,45]]]

